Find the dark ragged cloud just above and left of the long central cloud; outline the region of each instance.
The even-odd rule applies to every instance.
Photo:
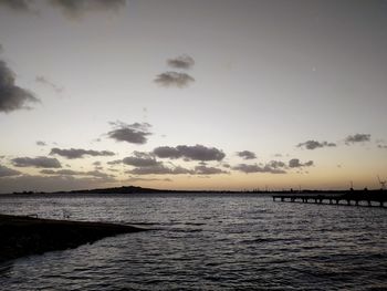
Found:
[[[149,133],[150,124],[134,123],[125,124],[122,122],[111,123],[115,128],[107,133],[107,136],[116,142],[127,142],[130,144],[145,144]]]

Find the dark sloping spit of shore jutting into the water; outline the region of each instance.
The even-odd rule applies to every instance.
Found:
[[[124,225],[0,215],[0,262],[143,230]]]

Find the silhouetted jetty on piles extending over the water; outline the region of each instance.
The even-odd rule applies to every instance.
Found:
[[[387,206],[387,191],[347,191],[344,194],[278,194],[273,195],[273,201],[303,202],[303,204],[326,204],[348,206]]]

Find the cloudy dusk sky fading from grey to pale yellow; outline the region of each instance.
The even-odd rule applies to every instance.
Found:
[[[0,193],[379,188],[385,0],[0,0]]]

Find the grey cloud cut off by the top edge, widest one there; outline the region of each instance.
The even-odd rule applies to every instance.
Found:
[[[125,0],[51,0],[54,8],[59,8],[69,19],[80,19],[92,11],[117,12],[125,7]]]

